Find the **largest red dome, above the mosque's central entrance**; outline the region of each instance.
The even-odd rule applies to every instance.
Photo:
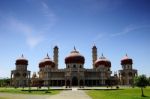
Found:
[[[84,64],[84,56],[82,56],[78,51],[76,51],[76,49],[74,48],[74,51],[72,51],[70,53],[69,56],[67,56],[65,58],[65,63],[68,64],[68,63],[81,63],[81,64]]]

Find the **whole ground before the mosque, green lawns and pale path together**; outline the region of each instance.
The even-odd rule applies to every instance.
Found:
[[[91,89],[92,90],[89,90]],[[51,93],[18,93],[19,89],[11,89],[3,92],[0,88],[0,99],[150,99],[150,87],[144,89],[146,97],[141,97],[140,88],[120,88],[119,90],[107,89],[106,87],[91,87],[86,90],[69,90],[56,91],[50,90]],[[9,88],[8,88],[9,89]],[[56,88],[57,89],[57,88]],[[58,90],[58,89],[57,89]],[[6,90],[5,90],[6,91]],[[12,92],[13,91],[13,92]],[[56,92],[55,92],[56,91]],[[18,94],[16,94],[18,93]]]

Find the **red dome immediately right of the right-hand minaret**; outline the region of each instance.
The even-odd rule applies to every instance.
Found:
[[[102,54],[102,56],[95,61],[95,67],[98,67],[99,65],[104,65],[106,67],[111,67],[111,62],[106,57],[104,57],[103,54]]]

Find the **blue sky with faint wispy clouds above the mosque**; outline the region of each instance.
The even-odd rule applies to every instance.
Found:
[[[15,60],[24,54],[28,69],[38,72],[38,63],[53,47],[59,47],[59,68],[76,49],[92,68],[93,45],[121,69],[127,53],[139,74],[150,76],[149,0],[0,0],[0,77],[10,77]]]

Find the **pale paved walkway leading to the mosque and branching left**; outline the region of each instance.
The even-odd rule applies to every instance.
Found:
[[[26,95],[26,94],[10,94],[0,93],[0,97],[8,99],[91,99],[83,90],[64,90],[57,95]]]

